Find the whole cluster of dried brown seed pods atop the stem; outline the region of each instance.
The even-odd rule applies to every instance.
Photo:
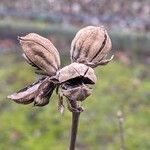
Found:
[[[77,113],[79,117],[84,110],[81,102],[91,95],[90,85],[96,83],[94,68],[106,65],[113,59],[113,56],[106,59],[111,50],[111,40],[104,27],[88,26],[78,31],[71,44],[71,64],[62,69],[59,52],[50,40],[36,33],[18,39],[24,51],[23,57],[42,78],[9,95],[8,98],[20,104],[33,103],[34,106],[45,106],[56,89],[59,99],[58,110],[64,112],[65,97],[68,109],[73,114]],[[75,139],[72,141],[75,142]],[[73,146],[70,147],[73,150]]]

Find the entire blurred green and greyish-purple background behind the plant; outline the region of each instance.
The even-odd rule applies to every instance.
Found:
[[[117,150],[122,111],[127,150],[150,149],[149,0],[1,0],[0,1],[0,150],[67,150],[71,113],[57,111],[57,95],[38,108],[6,96],[38,78],[25,60],[17,36],[36,32],[49,38],[69,64],[75,33],[104,25],[115,59],[98,67],[93,94],[83,102],[77,150]]]

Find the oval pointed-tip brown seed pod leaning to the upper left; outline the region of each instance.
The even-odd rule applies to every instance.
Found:
[[[51,41],[36,33],[18,38],[25,56],[31,64],[34,64],[49,76],[56,74],[60,67],[60,56]]]

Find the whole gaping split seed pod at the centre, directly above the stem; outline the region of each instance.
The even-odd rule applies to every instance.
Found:
[[[59,71],[58,80],[61,92],[72,101],[83,101],[92,93],[88,85],[95,84],[94,70],[80,63],[72,63]]]

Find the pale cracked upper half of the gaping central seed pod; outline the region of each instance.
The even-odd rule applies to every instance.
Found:
[[[75,80],[73,80],[75,79]],[[60,83],[72,80],[74,82],[83,81],[85,84],[95,84],[96,76],[94,70],[80,63],[72,63],[63,67],[58,72],[58,80]]]

